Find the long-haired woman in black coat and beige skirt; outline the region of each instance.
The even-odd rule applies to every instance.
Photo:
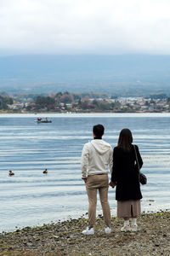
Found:
[[[141,213],[142,194],[139,184],[139,168],[143,165],[143,161],[138,146],[132,143],[131,131],[123,129],[119,135],[117,147],[113,151],[110,185],[112,188],[116,186],[117,217],[124,218],[122,231],[137,231],[137,216]],[[136,162],[135,150],[139,167]],[[129,218],[132,218],[131,225]]]

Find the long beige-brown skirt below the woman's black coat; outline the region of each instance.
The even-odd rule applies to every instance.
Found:
[[[117,201],[118,218],[131,218],[140,214],[140,200]]]

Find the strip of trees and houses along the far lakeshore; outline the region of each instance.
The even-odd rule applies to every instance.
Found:
[[[1,113],[161,113],[170,112],[166,94],[121,97],[99,92],[57,92],[54,94],[14,94],[0,92]]]

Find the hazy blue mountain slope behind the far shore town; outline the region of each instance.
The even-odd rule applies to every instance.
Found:
[[[0,57],[0,90],[98,91],[170,95],[170,55],[14,55]]]

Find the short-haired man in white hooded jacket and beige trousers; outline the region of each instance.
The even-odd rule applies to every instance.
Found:
[[[112,169],[112,148],[102,140],[105,128],[103,125],[94,125],[94,140],[86,143],[82,149],[82,179],[86,183],[88,194],[88,228],[82,231],[83,235],[94,235],[96,218],[97,190],[103,209],[105,220],[105,234],[111,233],[111,211],[108,202],[108,167]]]

